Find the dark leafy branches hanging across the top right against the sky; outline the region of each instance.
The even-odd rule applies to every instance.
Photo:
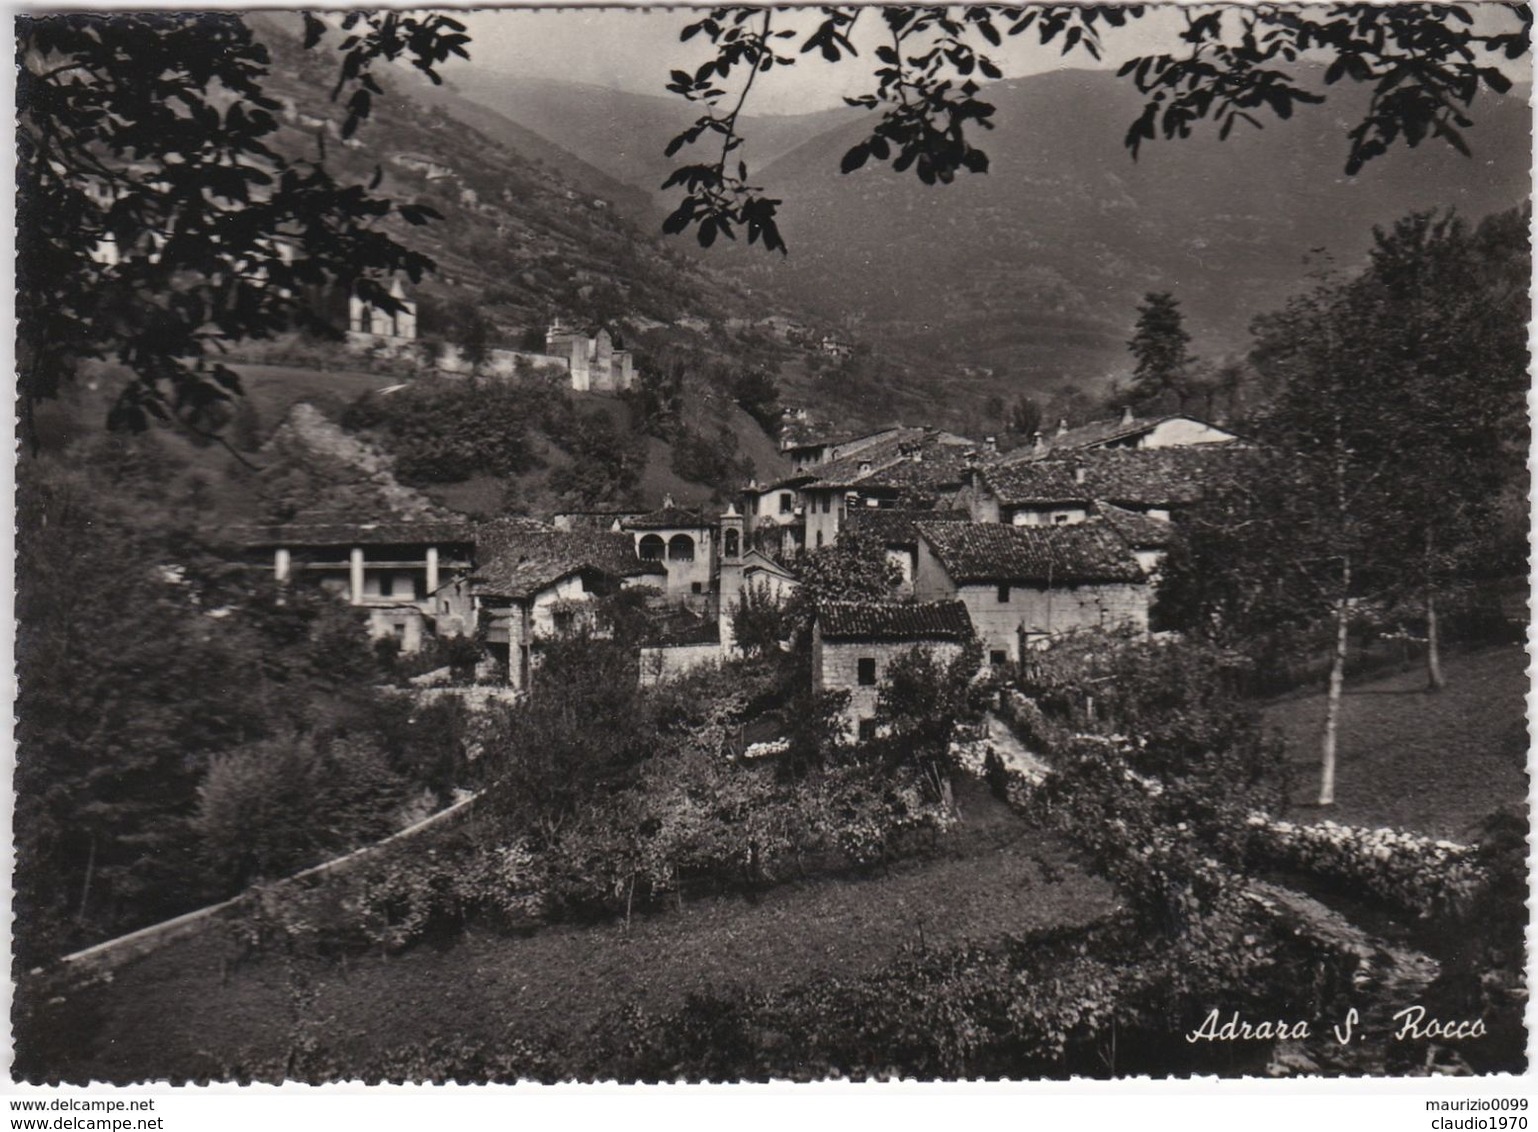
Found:
[[[1495,6],[1486,5],[1490,9]],[[1358,172],[1395,145],[1418,146],[1435,137],[1467,154],[1463,131],[1481,91],[1504,94],[1510,78],[1503,63],[1527,52],[1532,11],[1503,5],[1509,18],[1500,29],[1476,25],[1466,5],[1327,5],[1318,8],[1213,6],[1186,14],[1183,51],[1141,54],[1121,65],[1146,102],[1127,126],[1124,146],[1135,160],[1158,137],[1186,138],[1212,122],[1220,138],[1238,123],[1261,129],[1267,118],[1290,118],[1295,108],[1321,105],[1318,88],[1341,82],[1366,85],[1370,100],[1363,118],[1347,131],[1346,172]],[[807,55],[831,65],[861,66],[855,28],[883,22],[884,35],[871,66],[874,89],[849,106],[878,112],[869,135],[844,152],[840,169],[854,172],[869,161],[912,171],[926,185],[949,185],[960,172],[987,172],[987,154],[972,143],[978,129],[992,129],[994,106],[983,82],[1003,77],[990,51],[1004,40],[1032,32],[1037,42],[1100,60],[1106,35],[1141,20],[1141,5],[1044,5],[966,8],[881,5],[824,6],[821,20],[804,35],[774,28],[775,9],[715,8],[687,25],[681,40],[695,37],[714,54],[689,74],[674,71],[667,89],[706,112],[667,145],[667,155],[706,135],[721,138],[715,160],[683,165],[663,185],[683,188],[684,198],[663,225],[669,234],[691,229],[706,248],[718,235],[786,252],[777,215],[780,200],[751,185],[741,149],[741,114],[758,75],[797,66]],[[797,38],[800,35],[800,45]],[[1324,65],[1320,82],[1310,69]],[[741,68],[746,78],[740,78]],[[729,91],[737,78],[735,92]],[[714,140],[714,138],[712,138]],[[735,155],[735,172],[729,158]]]

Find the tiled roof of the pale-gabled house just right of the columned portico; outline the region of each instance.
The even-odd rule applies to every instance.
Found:
[[[620,578],[663,574],[667,568],[643,561],[635,540],[608,531],[531,531],[495,520],[475,532],[475,591],[494,597],[528,597],[581,569]]]

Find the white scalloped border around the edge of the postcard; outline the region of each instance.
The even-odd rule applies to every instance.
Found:
[[[1186,0],[1175,0],[1186,3]],[[1249,0],[1246,0],[1247,3]],[[1378,0],[1373,0],[1378,2]],[[1487,0],[1476,0],[1486,3]],[[51,9],[111,9],[111,8],[183,8],[183,9],[229,9],[229,8],[283,8],[300,5],[281,3],[198,3],[197,0],[157,0],[155,3],[89,3],[82,0],[54,0],[52,3],[15,5],[3,3],[0,11],[8,17],[37,8]],[[321,6],[321,5],[312,5]],[[335,8],[423,8],[429,5],[372,3],[360,5],[340,0],[323,5]],[[634,5],[614,5],[608,0],[571,0],[564,5],[538,3],[434,3],[434,8],[709,8],[707,3],[660,5],[643,0]],[[0,109],[5,118],[14,122],[15,89],[11,82],[0,88]],[[5,241],[0,255],[12,286],[0,292],[8,332],[0,340],[0,355],[14,371],[15,329],[15,151],[0,149],[5,174],[0,177],[0,203],[11,217],[12,238]],[[1533,225],[1538,241],[1538,223]],[[1538,323],[1529,326],[1529,346],[1538,355]],[[15,423],[14,403],[12,426]],[[1529,412],[1538,421],[1538,392],[1529,391]],[[14,435],[14,428],[12,428]],[[1529,454],[1529,472],[1538,475],[1538,460]],[[15,451],[0,461],[0,489],[14,498]],[[1532,506],[1532,500],[1529,500]],[[1530,531],[1532,518],[1530,518]],[[0,538],[0,560],[6,575],[15,568],[15,526],[9,524]],[[1538,569],[1529,577],[1530,597],[1538,601]],[[1533,606],[1538,608],[1538,606]],[[9,588],[0,591],[0,623],[6,632],[0,637],[0,655],[5,658],[3,695],[6,789],[9,771],[14,767],[14,594]],[[1538,629],[1529,626],[1527,654],[1535,654]],[[1529,668],[1529,677],[1532,666]],[[1538,703],[1538,691],[1529,689],[1529,720]],[[1532,732],[1532,727],[1529,727]],[[1529,751],[1529,814],[1533,803],[1533,775],[1538,774],[1538,758]],[[9,878],[12,860],[11,807],[0,811],[0,855]],[[1538,863],[1538,846],[1529,832],[1529,914],[1533,911],[1532,878]],[[1533,941],[1538,926],[1530,920],[1527,927],[1527,986],[1535,986],[1538,964],[1533,961]],[[9,952],[9,921],[6,926]],[[9,1018],[12,987],[5,990],[5,1017]],[[49,1123],[62,1112],[22,1114],[12,1109],[17,1100],[155,1100],[155,1115],[165,1118],[163,1127],[171,1132],[191,1129],[231,1129],[231,1132],[271,1132],[275,1127],[338,1127],[360,1124],[371,1132],[391,1129],[431,1129],[435,1124],[454,1124],[466,1129],[514,1129],[557,1127],[577,1123],[586,1127],[712,1127],[712,1129],[774,1129],[784,1132],[787,1123],[814,1126],[883,1126],[894,1129],[944,1129],[963,1120],[987,1121],[998,1129],[1049,1129],[1049,1127],[1154,1127],[1154,1129],[1206,1129],[1243,1127],[1266,1132],[1267,1129],[1297,1127],[1347,1127],[1347,1129],[1432,1129],[1433,1117],[1426,1109],[1427,1100],[1456,1098],[1523,1098],[1530,1100],[1524,1115],[1529,1127],[1538,1129],[1538,1003],[1527,1004],[1529,1072],[1523,1077],[1498,1075],[1476,1078],[1357,1078],[1357,1080],[1284,1080],[1261,1078],[1220,1080],[1150,1080],[1123,1078],[1118,1081],[1029,1081],[1029,1083],[915,1083],[895,1081],[884,1084],[854,1084],[847,1081],[823,1081],[814,1084],[703,1084],[703,1086],[621,1086],[615,1083],[560,1084],[560,1086],[365,1086],[337,1083],[331,1086],[102,1086],[89,1087],[40,1087],[15,1084],[9,1075],[12,1050],[6,1043],[6,1078],[0,1083],[0,1107],[6,1112],[5,1127],[14,1127],[14,1118],[43,1117]],[[1172,1035],[1177,1038],[1178,1035]],[[94,1115],[94,1114],[75,1114]],[[148,1115],[148,1114],[141,1114]],[[1481,1114],[1446,1114],[1458,1120]],[[1495,1129],[1487,1124],[1487,1129]]]

